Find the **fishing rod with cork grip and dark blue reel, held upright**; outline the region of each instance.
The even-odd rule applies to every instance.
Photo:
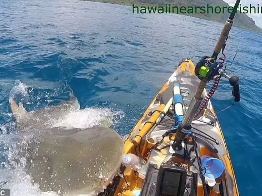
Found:
[[[231,27],[233,25],[233,19],[237,12],[237,8],[239,6],[240,0],[235,2],[235,6],[233,11],[231,12],[229,18],[227,19],[223,30],[221,31],[220,37],[216,43],[215,49],[211,57],[204,56],[202,59],[199,60],[195,67],[195,75],[201,80],[197,91],[195,92],[190,105],[187,109],[187,112],[178,126],[178,129],[175,133],[174,143],[172,144],[173,150],[179,151],[182,149],[181,143],[189,134],[192,129],[191,123],[194,117],[197,117],[200,114],[201,110],[208,104],[211,96],[215,93],[215,90],[219,84],[220,78],[223,76],[229,79],[229,83],[233,86],[232,95],[234,96],[234,101],[239,102],[240,95],[239,95],[239,78],[237,76],[227,76],[225,73],[225,68],[223,68],[223,63],[225,62],[226,56],[224,55],[224,49],[226,47],[226,42],[229,37],[229,32],[231,31]],[[221,62],[217,62],[217,57],[222,51],[223,58],[219,58]],[[213,87],[208,92],[207,96],[203,99],[202,94],[210,80],[214,80]],[[196,150],[196,149],[195,149]],[[200,159],[199,159],[200,160]],[[201,171],[201,168],[199,168]],[[203,175],[200,175],[203,176]],[[201,178],[204,195],[207,196],[207,188],[205,186],[204,177]]]

